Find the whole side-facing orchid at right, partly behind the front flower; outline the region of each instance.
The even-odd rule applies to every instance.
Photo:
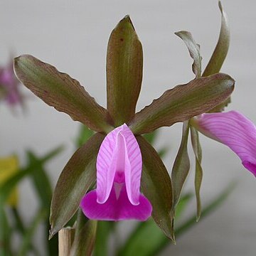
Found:
[[[196,75],[196,78],[201,78],[201,76],[207,77],[208,75],[218,73],[223,65],[226,55],[228,54],[230,43],[228,17],[227,14],[225,14],[225,11],[223,11],[220,1],[219,8],[222,14],[220,36],[218,38],[218,43],[215,50],[213,51],[213,55],[211,56],[210,61],[202,75],[202,58],[199,45],[196,43],[196,41],[194,41],[191,33],[188,31],[180,31],[176,33],[176,35],[179,36],[184,43],[186,43],[191,58],[193,58],[192,70]],[[198,131],[202,132],[211,139],[215,139],[218,142],[222,142],[223,144],[229,146],[230,149],[240,156],[243,166],[251,171],[252,174],[255,174],[255,124],[238,112],[232,111],[222,113],[228,103],[230,103],[230,97],[228,97],[228,99],[223,101],[220,105],[216,105],[212,110],[191,118],[189,122],[184,122],[181,146],[178,150],[171,174],[174,187],[173,211],[178,203],[183,184],[186,181],[186,177],[190,169],[187,151],[189,128],[191,130],[193,151],[196,156],[195,189],[197,200],[197,218],[200,218],[201,215],[200,188],[203,176],[203,169],[201,167],[202,151],[199,143]]]

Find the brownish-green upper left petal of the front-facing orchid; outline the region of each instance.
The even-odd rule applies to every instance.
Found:
[[[80,83],[31,55],[14,59],[18,79],[46,104],[69,114],[97,132],[108,132],[107,110],[97,104]]]

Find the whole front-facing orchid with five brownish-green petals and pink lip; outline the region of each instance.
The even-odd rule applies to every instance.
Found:
[[[142,134],[208,112],[230,96],[235,82],[223,73],[196,78],[167,90],[135,113],[142,66],[142,44],[129,16],[114,28],[107,47],[107,109],[52,65],[31,55],[15,58],[14,70],[23,85],[96,132],[60,174],[51,205],[51,236],[81,206],[96,220],[146,220],[152,215],[174,239],[171,178]]]

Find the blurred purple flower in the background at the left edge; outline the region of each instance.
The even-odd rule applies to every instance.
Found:
[[[20,84],[14,74],[12,61],[5,67],[0,67],[1,95],[11,107],[23,104],[23,97],[18,88]]]

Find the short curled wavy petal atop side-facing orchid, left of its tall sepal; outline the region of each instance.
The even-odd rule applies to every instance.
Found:
[[[192,35],[188,31],[179,31],[175,33],[176,36],[180,37],[188,48],[188,52],[193,58],[192,70],[193,73],[196,75],[196,78],[201,77],[201,53],[200,53],[200,46],[194,41]]]

